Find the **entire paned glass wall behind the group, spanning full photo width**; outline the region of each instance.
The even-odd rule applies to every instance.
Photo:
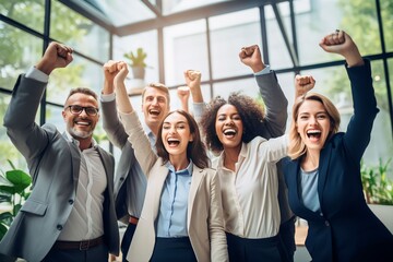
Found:
[[[206,102],[235,91],[257,99],[259,91],[252,72],[238,58],[241,47],[257,44],[266,51],[263,59],[276,71],[289,103],[294,100],[295,72],[312,74],[317,80],[315,91],[340,106],[342,128],[345,130],[345,119],[350,116],[350,92],[344,61],[342,57],[326,53],[319,47],[324,35],[340,28],[349,33],[360,52],[372,61],[373,84],[381,111],[365,162],[373,165],[380,157],[384,160],[393,157],[393,0],[294,0],[293,5],[284,1],[276,5],[267,4],[195,21],[157,24],[154,29],[128,36],[111,35],[115,34],[111,28],[97,25],[59,1],[50,1],[50,14],[46,16],[45,3],[44,0],[22,0],[17,3],[0,0],[1,117],[17,75],[40,58],[43,47],[49,39],[62,41],[75,50],[73,63],[67,69],[57,70],[50,78],[45,97],[49,104],[43,107],[46,119],[37,118],[39,123],[50,120],[60,127],[63,124],[60,111],[69,90],[87,86],[99,93],[103,84],[102,64],[108,59],[127,61],[123,55],[139,47],[147,53],[145,82],[142,85],[164,82],[174,96],[172,109],[179,107],[176,87],[184,84],[183,71],[187,69],[202,72],[202,91]],[[45,17],[50,17],[50,21],[45,21]],[[45,23],[49,24],[47,28],[50,32],[45,32]],[[262,46],[264,43],[266,45]],[[127,86],[131,90],[140,87],[141,83],[130,74]],[[131,99],[136,103],[141,97],[133,95]],[[290,114],[290,106],[288,111]],[[97,139],[103,136],[105,140],[100,127],[97,131]],[[5,148],[1,152],[15,151],[2,126],[0,140],[1,148]],[[108,146],[106,142],[103,145]],[[116,151],[114,153],[118,155]],[[2,154],[1,166],[4,166],[8,157],[19,162],[13,153]],[[390,174],[392,169],[393,166]]]

